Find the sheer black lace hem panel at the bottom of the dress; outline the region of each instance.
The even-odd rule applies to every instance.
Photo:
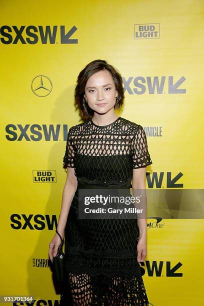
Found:
[[[59,305],[148,306],[149,302],[141,276],[90,277],[69,271]]]

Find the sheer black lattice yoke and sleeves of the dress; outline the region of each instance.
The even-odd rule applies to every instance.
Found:
[[[103,126],[89,120],[70,127],[63,157],[64,168],[74,167],[76,154],[101,158],[130,155],[133,168],[152,163],[142,126],[122,117]],[[103,162],[102,159],[101,161]]]

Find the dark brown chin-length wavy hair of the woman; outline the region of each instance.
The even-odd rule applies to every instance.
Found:
[[[77,82],[74,90],[74,100],[76,109],[79,109],[81,120],[91,119],[94,111],[88,106],[85,98],[85,84],[88,78],[95,72],[100,70],[108,70],[112,75],[112,79],[117,90],[117,98],[114,105],[115,109],[120,109],[124,101],[124,89],[122,87],[122,77],[119,71],[102,59],[95,59],[89,62],[78,74]]]

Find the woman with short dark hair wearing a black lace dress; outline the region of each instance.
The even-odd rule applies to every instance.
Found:
[[[60,305],[148,305],[139,265],[146,256],[146,219],[78,217],[80,189],[145,189],[146,165],[152,161],[144,130],[116,115],[124,100],[122,78],[105,60],[93,60],[80,71],[74,97],[84,122],[69,128],[63,157]],[[51,260],[59,244],[56,233],[49,243]]]

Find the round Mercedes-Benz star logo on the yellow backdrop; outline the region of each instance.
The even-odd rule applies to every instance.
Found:
[[[51,80],[45,75],[37,75],[31,81],[31,89],[38,96],[46,96],[52,90]]]

